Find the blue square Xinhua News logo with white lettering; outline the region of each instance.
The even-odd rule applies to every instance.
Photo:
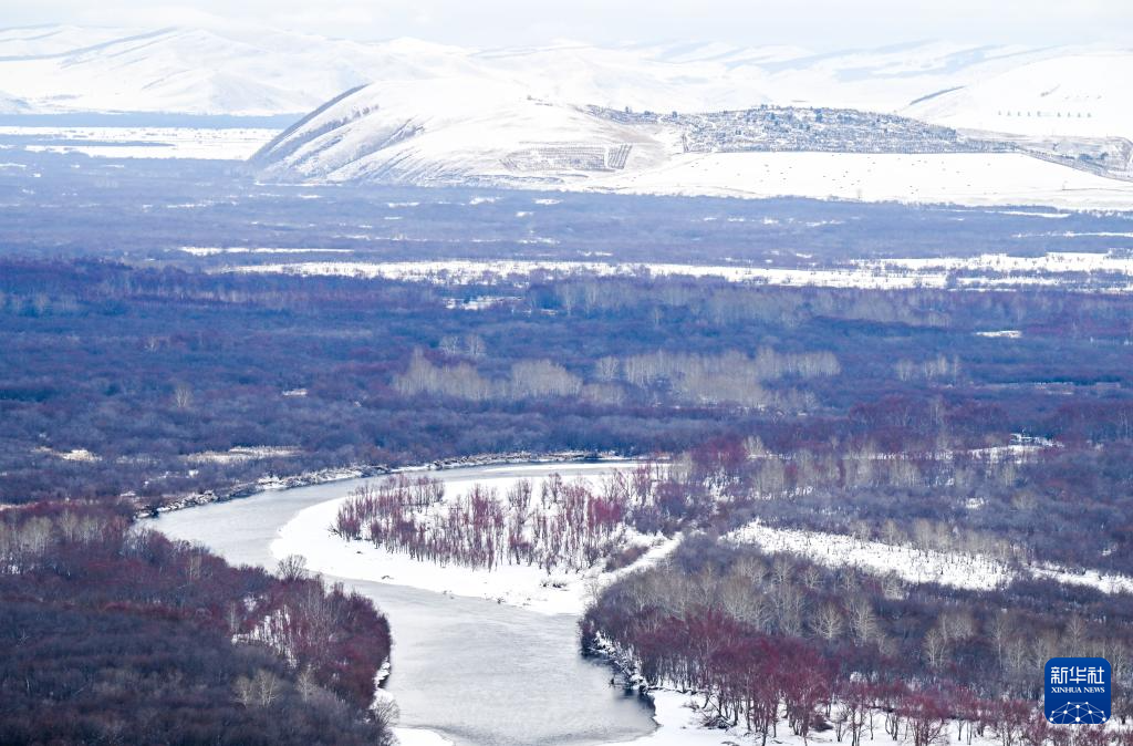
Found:
[[[1058,726],[1100,724],[1109,720],[1109,661],[1104,658],[1051,658],[1046,669],[1047,720]]]

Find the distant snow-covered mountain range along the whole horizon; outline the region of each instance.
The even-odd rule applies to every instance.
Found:
[[[232,24],[0,31],[0,88],[34,112],[298,117],[368,83],[463,79],[474,87],[518,85],[546,101],[638,111],[844,107],[1025,135],[1131,137],[1130,73],[1133,50],[1096,46],[918,42],[817,53],[561,42],[477,50]]]

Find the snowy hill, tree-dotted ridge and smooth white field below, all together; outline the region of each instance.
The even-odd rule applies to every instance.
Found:
[[[460,78],[352,91],[252,162],[284,181],[1133,206],[1127,181],[901,117],[777,107],[646,116]]]

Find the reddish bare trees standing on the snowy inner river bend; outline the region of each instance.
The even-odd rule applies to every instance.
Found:
[[[552,475],[538,494],[529,480],[519,480],[502,495],[474,484],[443,501],[440,481],[399,475],[355,490],[333,529],[348,541],[367,540],[442,565],[578,571],[628,549],[628,527],[657,510],[663,483],[662,471],[646,464],[598,488]]]

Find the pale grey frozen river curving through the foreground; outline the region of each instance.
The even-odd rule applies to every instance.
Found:
[[[432,475],[491,486],[516,476],[594,475],[598,468],[610,467],[491,466]],[[278,558],[271,544],[296,514],[341,498],[365,481],[263,492],[167,514],[153,525],[172,537],[203,543],[229,562],[272,568]],[[433,731],[462,746],[581,746],[631,740],[655,728],[649,710],[636,696],[610,686],[606,666],[581,658],[578,619],[572,614],[326,577],[373,599],[389,617],[393,669],[387,689],[397,697],[402,728]]]

